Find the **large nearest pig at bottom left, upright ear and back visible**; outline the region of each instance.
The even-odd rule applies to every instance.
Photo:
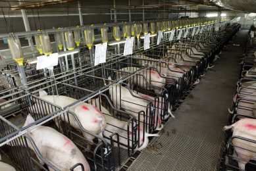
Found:
[[[35,122],[34,118],[28,114],[24,126],[33,122]],[[75,164],[81,163],[84,165],[84,170],[90,171],[90,165],[78,147],[68,137],[53,128],[38,126],[28,132],[27,135],[32,137],[42,157],[59,168],[59,170],[68,171]],[[28,146],[34,151],[34,147],[32,147],[30,141],[28,141]],[[43,161],[40,159],[39,161],[43,164]],[[48,168],[50,171],[53,170],[49,166]],[[78,166],[74,170],[80,171],[81,167]]]

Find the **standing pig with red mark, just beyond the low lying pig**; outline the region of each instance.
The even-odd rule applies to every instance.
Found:
[[[111,77],[109,76],[108,79],[111,80]],[[119,92],[121,93],[119,94]],[[144,111],[146,114],[146,107],[148,107],[149,105],[149,100],[138,98],[140,96],[134,97],[136,96],[136,94],[132,96],[132,91],[129,91],[129,89],[127,89],[126,87],[117,84],[109,89],[109,95],[111,97],[111,101],[113,101],[114,107],[116,107],[117,109],[124,109],[128,113],[134,114],[137,120],[139,118],[138,113],[141,112],[141,110]],[[143,120],[144,116],[141,114],[140,122],[143,122]],[[147,116],[147,123],[149,123],[149,115]],[[155,125],[155,127],[157,127],[156,130],[161,130],[163,128],[163,124],[161,123],[161,118],[157,112],[153,119],[153,124]]]

